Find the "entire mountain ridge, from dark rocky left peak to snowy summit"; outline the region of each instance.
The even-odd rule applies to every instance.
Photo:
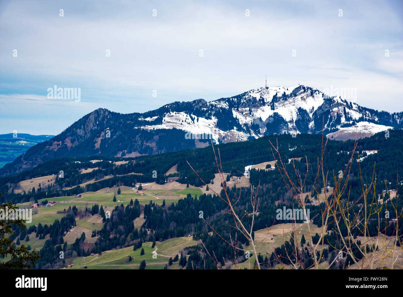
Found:
[[[361,107],[298,85],[265,87],[211,102],[172,102],[145,113],[97,109],[0,169],[10,175],[61,157],[136,157],[265,135],[324,134],[344,140],[403,128],[403,113]],[[385,132],[387,133],[387,132]],[[211,139],[211,140],[210,140]],[[174,164],[173,164],[174,165]]]

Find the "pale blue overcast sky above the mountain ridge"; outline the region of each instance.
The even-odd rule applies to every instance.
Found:
[[[402,11],[402,1],[1,0],[0,133],[58,134],[98,107],[215,100],[265,75],[269,86],[356,88],[359,105],[403,111]],[[81,88],[81,101],[48,99],[54,85]]]

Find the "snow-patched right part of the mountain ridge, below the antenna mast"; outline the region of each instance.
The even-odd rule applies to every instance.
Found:
[[[149,123],[158,118],[160,123]],[[357,138],[367,137],[401,128],[402,113],[378,112],[298,85],[258,88],[211,102],[174,102],[139,119],[143,129],[176,128],[231,142],[271,134],[321,133],[322,127],[329,138],[355,138],[355,132]]]

